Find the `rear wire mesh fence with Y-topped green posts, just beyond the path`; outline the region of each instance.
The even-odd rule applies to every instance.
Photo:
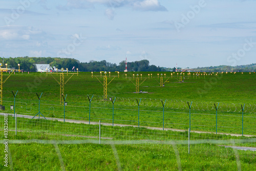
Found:
[[[11,92],[6,91],[5,94],[3,101],[5,105],[14,105]],[[38,99],[36,93],[19,92],[14,109],[17,114],[35,116],[35,118],[63,120],[65,118],[90,122],[101,120],[114,125],[140,125],[181,131],[186,131],[190,125],[191,131],[256,134],[255,104],[193,101],[189,116],[189,106],[184,100],[113,96],[105,99],[97,95],[70,94],[67,95],[65,102],[65,106],[59,104],[59,94],[42,93],[41,98]],[[140,102],[139,105],[138,102]],[[163,102],[165,102],[164,106]],[[7,107],[6,112],[13,113],[14,110]]]

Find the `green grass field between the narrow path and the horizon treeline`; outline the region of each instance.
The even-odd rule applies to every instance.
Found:
[[[117,75],[117,73],[112,73]],[[108,86],[108,96],[113,100],[104,100],[103,86],[91,73],[75,74],[65,85],[66,101],[65,118],[115,124],[166,127],[187,130],[189,128],[189,108],[191,103],[191,130],[216,132],[216,109],[218,106],[217,127],[219,133],[256,135],[256,74],[255,73],[214,73],[207,76],[184,73],[184,82],[179,82],[176,73],[164,72],[165,87],[160,87],[161,73],[142,73],[146,79],[139,90],[146,94],[136,94],[133,74],[120,73]],[[165,78],[164,78],[165,74]],[[173,74],[173,77],[171,77]],[[201,73],[204,74],[204,73]],[[217,74],[217,75],[216,75]],[[5,74],[5,77],[8,75]],[[93,73],[94,76],[100,73]],[[140,75],[140,73],[139,73]],[[181,73],[178,73],[180,76]],[[183,74],[182,74],[183,75]],[[71,75],[66,75],[66,80]],[[167,78],[167,77],[170,78]],[[58,80],[59,74],[54,75]],[[127,77],[127,78],[126,78]],[[135,76],[136,77],[136,76]],[[108,77],[110,80],[113,77]],[[130,78],[130,79],[129,79]],[[103,77],[99,77],[101,82]],[[177,80],[178,79],[178,80]],[[142,82],[144,79],[140,79]],[[133,82],[132,82],[133,81]],[[15,84],[18,82],[18,84]],[[13,113],[9,106],[13,105],[11,91],[18,90],[15,104],[17,114],[35,115],[38,113],[38,98],[35,93],[42,94],[40,112],[46,117],[63,118],[63,105],[59,104],[59,84],[46,73],[24,73],[12,75],[4,84],[3,100],[6,112]],[[91,109],[87,95],[92,98]],[[140,101],[138,111],[137,101]],[[162,102],[165,102],[164,116]],[[245,104],[242,118],[241,104]],[[114,121],[113,121],[114,118]],[[243,121],[243,123],[242,123]],[[163,124],[164,122],[164,124]],[[242,127],[243,125],[243,127]]]

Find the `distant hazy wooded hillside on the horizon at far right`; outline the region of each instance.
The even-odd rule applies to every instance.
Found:
[[[200,72],[256,72],[256,63],[251,63],[250,65],[242,66],[216,66],[216,67],[198,67],[195,70]]]

